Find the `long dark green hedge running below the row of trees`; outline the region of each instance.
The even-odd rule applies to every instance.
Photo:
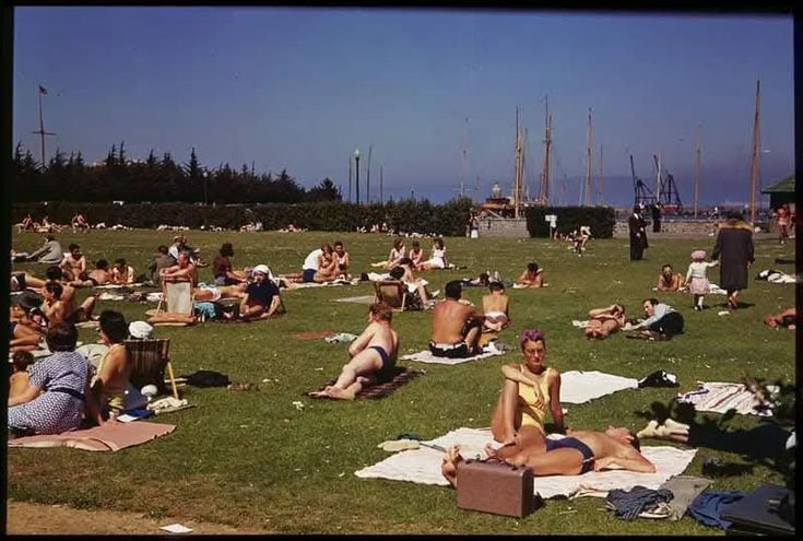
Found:
[[[31,212],[34,221],[47,214],[50,222],[69,224],[81,211],[91,224],[105,222],[107,226],[153,228],[162,224],[200,228],[202,225],[237,230],[249,222],[262,222],[265,230],[279,230],[287,224],[314,231],[355,231],[373,224],[387,223],[394,231],[405,233],[438,233],[462,236],[473,202],[469,198],[453,199],[444,204],[429,201],[389,201],[385,204],[354,204],[344,202],[269,203],[202,205],[192,203],[76,203],[50,201],[14,203],[12,223]]]

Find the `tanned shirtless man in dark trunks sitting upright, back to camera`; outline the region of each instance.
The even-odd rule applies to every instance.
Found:
[[[452,280],[444,289],[446,298],[433,309],[433,338],[429,351],[436,357],[468,357],[480,353],[480,331],[485,316],[460,302],[463,286]]]

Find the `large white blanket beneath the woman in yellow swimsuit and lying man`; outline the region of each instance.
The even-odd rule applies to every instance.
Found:
[[[551,435],[550,437],[560,437]],[[485,444],[494,447],[489,430],[458,428],[444,436],[425,442],[448,448],[460,446],[464,458],[484,457]],[[697,449],[678,449],[675,447],[642,446],[641,452],[656,464],[656,473],[636,473],[625,470],[590,471],[582,475],[548,475],[535,478],[534,493],[543,498],[556,496],[589,495],[604,497],[613,489],[630,490],[636,485],[658,490],[673,475],[683,473],[694,459]],[[449,482],[440,473],[442,454],[438,450],[422,447],[392,455],[381,462],[355,471],[358,478],[390,479],[393,481],[411,481],[421,484],[448,485]]]

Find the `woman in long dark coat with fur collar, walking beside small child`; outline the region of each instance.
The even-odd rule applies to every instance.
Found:
[[[711,259],[720,261],[719,286],[728,292],[728,306],[739,307],[739,292],[747,287],[747,269],[753,257],[753,228],[740,212],[729,212],[720,225]]]

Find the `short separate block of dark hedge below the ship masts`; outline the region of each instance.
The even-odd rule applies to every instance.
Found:
[[[527,231],[531,237],[548,237],[547,214],[557,216],[557,232],[567,234],[590,225],[597,238],[611,238],[616,223],[616,213],[611,207],[530,207],[527,209]]]

